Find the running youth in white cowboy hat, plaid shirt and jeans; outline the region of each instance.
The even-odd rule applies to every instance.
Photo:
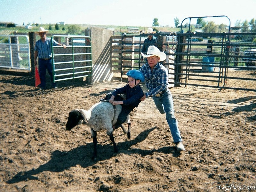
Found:
[[[144,93],[141,101],[148,97],[153,97],[157,109],[161,114],[166,114],[166,120],[172,133],[172,138],[178,151],[184,151],[185,148],[180,136],[178,122],[174,116],[172,94],[168,88],[168,70],[159,61],[166,59],[166,54],[160,52],[156,46],[149,46],[147,55],[141,52],[148,62],[144,64],[140,71],[145,77],[145,84],[149,92]]]

